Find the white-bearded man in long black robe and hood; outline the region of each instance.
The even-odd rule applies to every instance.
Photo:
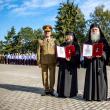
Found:
[[[97,31],[99,34],[97,34]],[[97,34],[92,37],[92,34]],[[94,23],[90,26],[89,38],[86,44],[103,43],[102,56],[85,57],[84,63],[86,67],[85,86],[83,98],[87,101],[102,101],[107,99],[107,70],[109,46],[100,27]]]

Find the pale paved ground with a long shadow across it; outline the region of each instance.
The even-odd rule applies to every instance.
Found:
[[[107,69],[110,97],[110,68]],[[37,66],[1,64],[0,110],[110,110],[110,101],[88,102],[82,99],[84,78],[85,70],[79,69],[79,94],[75,98],[41,96],[43,87]]]

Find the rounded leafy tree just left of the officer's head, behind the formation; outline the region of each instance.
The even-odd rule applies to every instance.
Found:
[[[22,52],[36,52],[37,39],[43,38],[42,30],[33,30],[30,27],[21,28],[19,32],[19,44]]]

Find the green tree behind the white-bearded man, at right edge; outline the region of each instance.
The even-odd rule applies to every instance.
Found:
[[[106,39],[110,43],[110,11],[104,9],[104,5],[95,8],[94,12],[90,14],[88,24],[98,23],[101,27]]]

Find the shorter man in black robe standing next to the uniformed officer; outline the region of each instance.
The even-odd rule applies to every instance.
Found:
[[[75,54],[69,60],[63,58],[58,59],[58,97],[74,97],[78,92],[77,67],[80,64],[80,47],[74,33],[69,32],[66,35],[66,41],[61,46],[73,45],[75,47]]]

